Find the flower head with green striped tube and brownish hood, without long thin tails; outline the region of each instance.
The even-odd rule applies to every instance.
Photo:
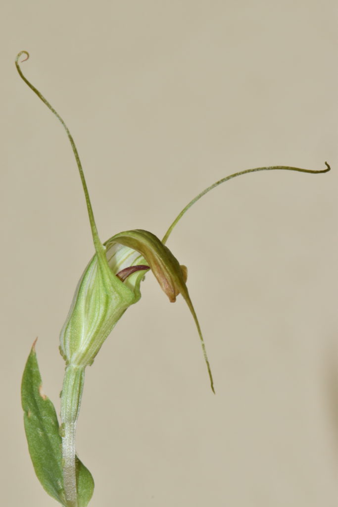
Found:
[[[195,318],[185,285],[186,268],[155,234],[125,231],[108,239],[103,251],[84,271],[60,333],[60,351],[67,365],[92,364],[117,321],[140,299],[140,283],[149,268],[169,301],[181,293]]]

